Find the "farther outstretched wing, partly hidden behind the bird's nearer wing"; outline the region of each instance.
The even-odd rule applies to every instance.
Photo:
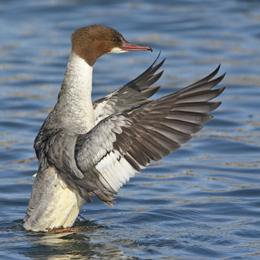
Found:
[[[158,57],[154,63],[136,79],[92,103],[94,108],[95,125],[109,115],[151,101],[148,98],[157,92],[160,86],[150,86],[157,81],[163,73],[162,71],[154,75],[165,60],[164,59],[158,65],[153,67]]]

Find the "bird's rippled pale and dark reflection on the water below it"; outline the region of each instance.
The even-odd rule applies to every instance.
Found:
[[[28,232],[28,248],[23,255],[33,259],[125,259],[125,252],[107,243],[109,227],[84,221],[85,231],[79,233]],[[104,243],[106,241],[106,243]],[[112,242],[112,241],[111,241]]]

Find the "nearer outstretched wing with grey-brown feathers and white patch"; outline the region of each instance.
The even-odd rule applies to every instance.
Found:
[[[77,190],[80,181],[83,198],[95,194],[112,207],[113,194],[129,177],[178,149],[213,117],[207,113],[221,102],[209,101],[225,87],[212,88],[225,74],[208,82],[211,75],[160,99],[110,115],[88,133],[79,135],[74,158],[83,178],[64,171],[61,178]],[[97,188],[88,183],[84,187],[82,180],[95,183]]]

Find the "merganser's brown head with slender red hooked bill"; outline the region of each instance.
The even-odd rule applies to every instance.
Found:
[[[98,57],[131,50],[152,50],[127,42],[116,30],[95,24],[77,29],[71,36],[72,51],[93,66]]]

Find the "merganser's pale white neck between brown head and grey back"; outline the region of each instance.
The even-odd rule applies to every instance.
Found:
[[[87,133],[94,127],[91,100],[92,69],[87,62],[71,53],[54,110],[61,116],[62,126],[69,134]]]

